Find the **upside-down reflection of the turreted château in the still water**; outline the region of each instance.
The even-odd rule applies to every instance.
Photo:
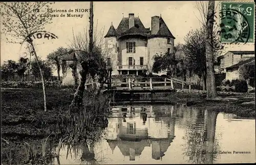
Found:
[[[135,160],[145,147],[152,148],[152,158],[165,155],[175,137],[174,107],[157,109],[153,106],[126,106],[113,108],[109,118],[106,140],[112,152],[118,147],[124,157]]]

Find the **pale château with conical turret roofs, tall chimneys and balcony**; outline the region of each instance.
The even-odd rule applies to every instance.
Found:
[[[156,53],[174,51],[175,37],[161,15],[151,17],[150,30],[144,27],[139,17],[130,13],[129,17],[122,18],[117,29],[112,24],[104,38],[112,75],[152,72]]]

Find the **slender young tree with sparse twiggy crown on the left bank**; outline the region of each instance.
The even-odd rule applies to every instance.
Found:
[[[11,41],[9,42],[11,43],[23,44],[28,42],[32,47],[41,75],[45,111],[47,111],[45,80],[38,62],[32,35],[44,30],[46,24],[52,23],[52,17],[40,17],[40,14],[48,14],[52,4],[49,2],[3,2],[0,8],[1,23],[3,24],[2,33],[8,35],[8,41],[10,38]],[[44,9],[45,12],[41,13],[41,9]]]

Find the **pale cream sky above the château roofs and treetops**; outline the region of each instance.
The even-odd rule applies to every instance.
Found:
[[[218,1],[216,1],[216,5]],[[219,3],[220,4],[220,3]],[[90,2],[56,2],[53,9],[69,10],[69,9],[89,9]],[[219,7],[217,7],[218,9]],[[196,1],[171,1],[171,2],[94,2],[94,26],[98,21],[97,31],[104,28],[104,35],[110,28],[111,22],[115,29],[120,23],[122,17],[128,17],[129,13],[134,13],[135,17],[140,18],[145,28],[151,28],[151,17],[162,16],[167,24],[170,32],[176,37],[175,44],[184,43],[184,37],[190,30],[199,28],[200,17],[199,11],[196,9]],[[61,13],[53,13],[60,14]],[[73,38],[72,28],[75,35],[83,32],[84,29],[89,30],[89,12],[80,12],[75,14],[83,14],[82,18],[74,17],[56,17],[53,23],[46,26],[46,31],[55,34],[58,39],[47,40],[37,39],[37,54],[45,59],[47,54],[57,49],[59,46],[68,47]],[[197,18],[198,17],[198,18]],[[254,45],[243,45],[237,47],[231,46],[231,50],[254,50]],[[26,50],[19,44],[7,43],[5,37],[1,34],[1,64],[5,60],[18,60],[24,56]]]

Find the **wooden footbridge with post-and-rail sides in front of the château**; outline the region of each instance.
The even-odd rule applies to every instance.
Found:
[[[86,84],[86,88],[90,88],[95,85],[97,85],[97,82],[90,82]],[[118,92],[170,91],[174,89],[188,89],[189,93],[191,93],[191,84],[172,77],[111,77],[104,89],[115,90]]]

